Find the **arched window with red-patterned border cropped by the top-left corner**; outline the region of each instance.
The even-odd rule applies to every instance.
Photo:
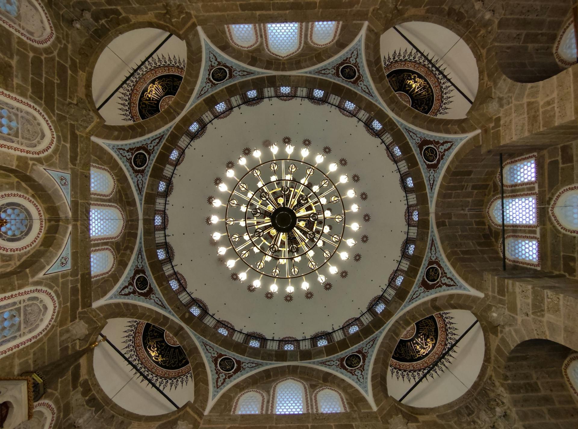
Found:
[[[20,0],[0,9],[0,24],[36,46],[46,46],[54,39],[54,27],[39,0]]]

